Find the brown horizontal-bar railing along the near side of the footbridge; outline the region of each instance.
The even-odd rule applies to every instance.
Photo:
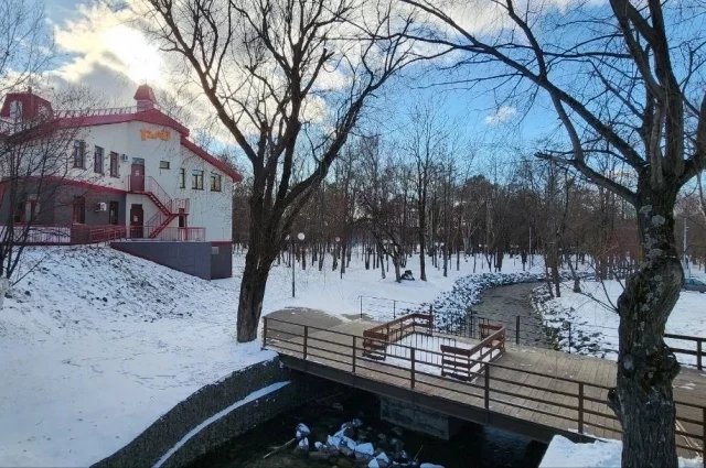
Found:
[[[504,333],[504,328],[502,329]],[[464,401],[485,412],[510,409],[514,414],[525,413],[537,424],[557,428],[563,422],[566,432],[577,432],[589,437],[621,434],[620,422],[608,406],[611,388],[526,369],[512,368],[492,362],[488,357],[469,362],[467,378],[445,376],[443,363],[429,356],[438,355],[443,362],[443,352],[407,348],[408,357],[396,357],[395,363],[366,358],[363,340],[386,346],[384,339],[333,331],[292,322],[264,318],[263,347],[284,355],[335,368],[347,373],[383,381],[438,398]],[[435,393],[436,392],[436,393]],[[446,396],[445,396],[446,395]],[[688,453],[704,456],[706,442],[706,406],[677,400],[676,446]],[[506,414],[503,413],[503,414]],[[549,423],[555,420],[554,425]]]

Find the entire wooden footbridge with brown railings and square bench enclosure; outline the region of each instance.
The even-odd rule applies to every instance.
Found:
[[[301,315],[265,317],[263,346],[293,370],[535,440],[621,438],[606,404],[614,361],[510,344],[502,326],[438,333],[430,314],[311,324]],[[684,368],[674,398],[680,455],[703,457],[706,374]]]

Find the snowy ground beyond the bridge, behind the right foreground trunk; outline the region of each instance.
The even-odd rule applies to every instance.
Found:
[[[544,318],[559,329],[559,345],[569,350],[569,322],[571,352],[618,358],[618,314],[612,309],[622,293],[617,280],[581,282],[581,294],[571,291],[573,283],[563,283],[561,297],[544,304]],[[682,291],[666,325],[666,331],[675,335],[706,337],[706,294]],[[696,349],[693,341],[667,339],[667,344],[684,349]],[[681,362],[695,363],[693,356],[677,355]]]

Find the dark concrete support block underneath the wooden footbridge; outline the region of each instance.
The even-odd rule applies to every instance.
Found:
[[[449,440],[464,422],[402,400],[379,396],[379,418],[409,431]]]

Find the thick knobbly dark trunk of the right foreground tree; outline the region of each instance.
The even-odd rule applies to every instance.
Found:
[[[684,274],[674,238],[676,191],[666,191],[671,192],[640,196],[638,224],[645,261],[618,300],[618,381],[609,404],[624,431],[623,468],[677,466],[672,381],[680,364],[664,344],[664,328]]]

